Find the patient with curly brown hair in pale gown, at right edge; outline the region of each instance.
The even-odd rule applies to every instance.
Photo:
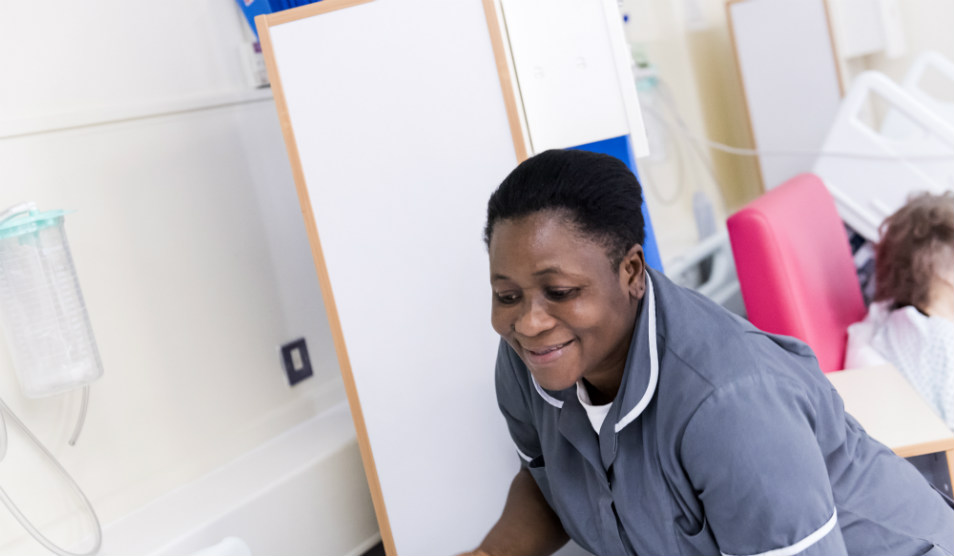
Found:
[[[954,193],[911,198],[881,225],[875,297],[846,367],[892,363],[954,429]]]

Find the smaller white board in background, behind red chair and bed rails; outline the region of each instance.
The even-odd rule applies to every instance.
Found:
[[[841,100],[824,0],[729,4],[755,145],[818,152]],[[766,189],[810,171],[815,156],[759,157]]]

